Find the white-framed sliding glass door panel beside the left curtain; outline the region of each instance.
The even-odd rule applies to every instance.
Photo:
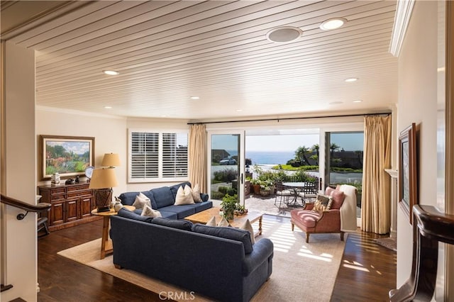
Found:
[[[244,131],[209,131],[210,198],[226,194],[244,204]]]

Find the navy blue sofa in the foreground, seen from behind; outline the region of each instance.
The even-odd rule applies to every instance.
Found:
[[[147,218],[122,208],[111,216],[110,234],[116,268],[175,284],[187,296],[249,301],[272,273],[271,240],[252,245],[245,230]]]

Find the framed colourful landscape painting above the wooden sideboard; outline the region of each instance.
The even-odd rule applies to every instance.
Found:
[[[40,178],[48,180],[58,172],[60,178],[84,175],[94,165],[94,138],[40,135]]]

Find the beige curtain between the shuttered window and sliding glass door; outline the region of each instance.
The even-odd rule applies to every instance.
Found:
[[[203,124],[191,125],[189,130],[189,181],[199,184],[201,192],[206,188],[206,129]]]

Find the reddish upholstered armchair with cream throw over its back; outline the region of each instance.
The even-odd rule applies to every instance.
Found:
[[[326,188],[325,195],[332,197],[331,208],[325,211],[312,211],[315,203],[306,203],[304,209],[294,209],[292,231],[294,226],[306,233],[309,242],[311,233],[340,233],[356,230],[356,188],[347,184],[336,189]]]

